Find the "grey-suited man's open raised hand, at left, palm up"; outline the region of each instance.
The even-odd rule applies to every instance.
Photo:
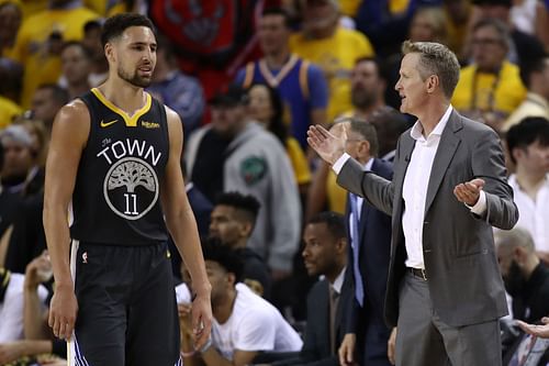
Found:
[[[311,147],[328,164],[335,162],[345,153],[347,131],[345,123],[335,124],[330,131],[316,124],[309,127],[307,142]]]

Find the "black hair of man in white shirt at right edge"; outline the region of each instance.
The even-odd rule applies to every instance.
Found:
[[[527,148],[537,141],[541,146],[549,146],[549,120],[542,117],[527,117],[507,131],[506,140],[511,160],[516,164],[513,156],[515,148]]]

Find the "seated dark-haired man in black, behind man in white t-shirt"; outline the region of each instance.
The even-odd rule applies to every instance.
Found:
[[[260,210],[259,202],[253,196],[226,192],[217,196],[212,211],[210,237],[215,237],[223,245],[234,249],[243,262],[243,282],[266,299],[271,295],[271,277],[264,259],[249,247]]]

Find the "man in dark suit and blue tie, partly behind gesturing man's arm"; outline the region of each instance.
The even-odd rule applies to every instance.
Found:
[[[391,164],[378,156],[376,127],[357,119],[345,124],[345,149],[365,170],[391,180]],[[391,218],[354,193],[347,200],[349,257],[347,275],[351,301],[347,303],[345,339],[339,352],[354,354],[360,365],[389,366],[388,340],[390,330],[383,322],[386,274],[391,251]]]

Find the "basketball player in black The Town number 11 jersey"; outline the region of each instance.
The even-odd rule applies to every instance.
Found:
[[[155,40],[143,15],[108,19],[108,80],[54,122],[44,203],[56,282],[49,326],[70,341],[70,365],[180,365],[166,225],[192,277],[195,347],[209,340],[211,286],[180,169],[181,121],[143,90]]]

